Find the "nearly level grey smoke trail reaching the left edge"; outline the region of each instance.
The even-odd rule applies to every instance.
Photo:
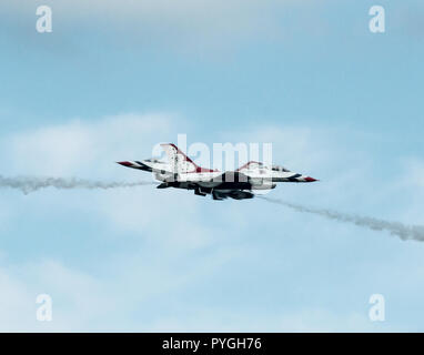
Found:
[[[95,180],[85,180],[78,178],[34,178],[34,176],[16,176],[16,178],[4,178],[0,175],[0,187],[17,189],[22,191],[24,194],[30,192],[46,189],[115,189],[115,187],[133,187],[141,185],[151,185],[154,182],[140,181],[140,182],[102,182]]]

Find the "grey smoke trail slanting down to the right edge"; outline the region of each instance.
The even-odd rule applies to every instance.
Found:
[[[414,241],[424,242],[423,225],[405,225],[400,222],[388,222],[384,220],[377,220],[373,217],[365,217],[365,216],[359,216],[359,215],[350,215],[350,214],[323,210],[323,209],[306,207],[300,204],[285,202],[279,199],[270,199],[265,196],[259,196],[259,197],[272,203],[282,204],[284,206],[287,206],[299,212],[319,214],[331,220],[353,223],[356,225],[369,227],[374,231],[387,231],[393,235],[397,235],[403,241],[414,240]]]

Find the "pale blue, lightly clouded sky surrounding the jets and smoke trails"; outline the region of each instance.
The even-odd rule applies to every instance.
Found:
[[[36,31],[38,4],[52,33]],[[1,175],[134,181],[113,162],[179,133],[271,142],[276,163],[321,180],[272,196],[424,223],[420,1],[3,1],[0,14]],[[424,329],[418,242],[152,186],[1,196],[2,331]],[[369,320],[375,293],[385,322]]]

